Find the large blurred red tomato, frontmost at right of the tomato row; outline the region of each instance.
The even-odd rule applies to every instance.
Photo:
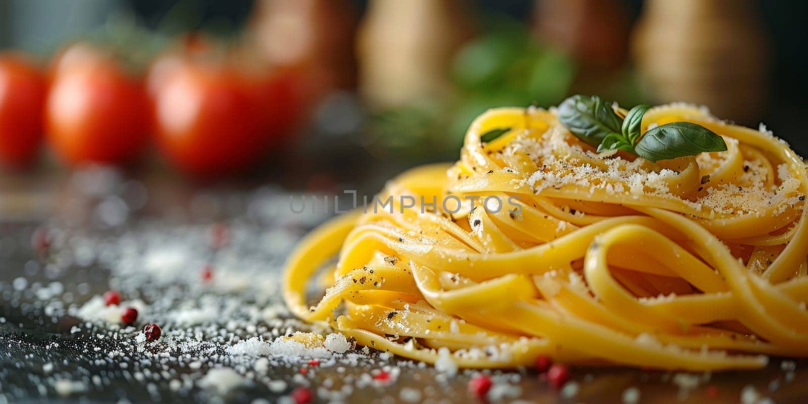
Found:
[[[163,79],[154,99],[158,144],[194,175],[238,170],[267,145],[255,95],[234,69],[184,63]]]

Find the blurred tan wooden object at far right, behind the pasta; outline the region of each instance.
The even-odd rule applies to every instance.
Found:
[[[706,105],[746,124],[766,103],[766,49],[750,0],[648,0],[633,56],[655,101]]]

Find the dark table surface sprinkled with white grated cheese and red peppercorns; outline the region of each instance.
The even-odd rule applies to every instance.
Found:
[[[0,403],[276,402],[297,386],[314,402],[477,400],[466,387],[475,372],[448,377],[376,352],[319,364],[234,355],[238,341],[312,330],[283,308],[280,267],[328,213],[289,214],[282,187],[185,186],[95,168],[5,176],[0,191]],[[135,326],[88,321],[99,310],[86,302],[108,289],[141,305]],[[148,322],[163,335],[142,343]],[[622,402],[629,391],[639,402],[806,402],[805,364],[772,358],[759,371],[713,374],[573,368],[562,391],[529,369],[496,371],[490,401]],[[206,385],[212,368],[232,369],[239,386]],[[389,381],[374,379],[380,371]]]

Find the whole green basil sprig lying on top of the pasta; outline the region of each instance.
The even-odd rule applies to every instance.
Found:
[[[582,141],[597,146],[598,153],[624,150],[651,162],[726,151],[724,139],[713,131],[690,122],[671,122],[640,132],[642,116],[649,105],[631,108],[625,120],[611,103],[597,95],[573,95],[558,106],[558,119]]]

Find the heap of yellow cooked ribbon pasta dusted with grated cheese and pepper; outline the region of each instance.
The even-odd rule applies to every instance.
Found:
[[[284,299],[361,345],[463,368],[552,356],[713,370],[808,356],[802,158],[765,128],[684,104],[650,109],[642,132],[673,121],[718,133],[726,152],[597,154],[554,109],[490,110],[460,161],[387,184],[379,197],[393,208],[309,234],[288,259]],[[481,141],[493,128],[509,130]],[[330,287],[310,307],[324,268]]]

